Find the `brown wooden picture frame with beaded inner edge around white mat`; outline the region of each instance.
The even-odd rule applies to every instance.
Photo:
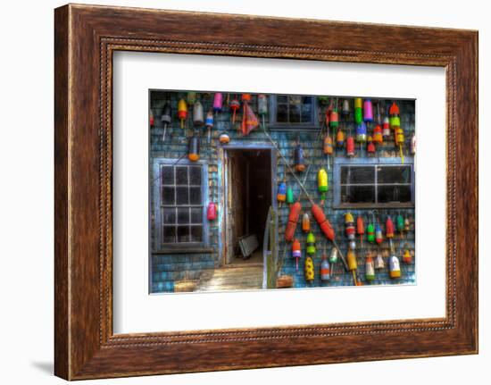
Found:
[[[72,4],[55,10],[54,27],[57,376],[81,380],[478,352],[476,31]],[[114,334],[112,54],[121,50],[445,68],[446,316]]]

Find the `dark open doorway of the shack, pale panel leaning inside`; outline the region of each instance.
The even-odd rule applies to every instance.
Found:
[[[226,163],[224,264],[262,265],[262,241],[272,199],[271,150],[228,148]]]

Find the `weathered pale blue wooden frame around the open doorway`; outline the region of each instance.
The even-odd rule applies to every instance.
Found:
[[[269,150],[270,151],[270,172],[271,172],[271,205],[276,210],[277,202],[274,198],[276,191],[276,183],[274,182],[274,177],[277,172],[277,158],[276,150],[274,146],[268,142],[264,141],[250,141],[247,143],[229,143],[227,145],[220,145],[218,148],[218,194],[219,194],[219,255],[220,255],[220,265],[225,265],[227,263],[227,193],[229,191],[229,183],[227,175],[229,173],[227,164],[227,151],[228,150]],[[265,261],[263,261],[265,264]]]

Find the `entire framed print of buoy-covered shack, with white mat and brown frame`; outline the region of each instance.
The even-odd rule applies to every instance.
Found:
[[[55,374],[477,353],[477,41],[56,9]]]

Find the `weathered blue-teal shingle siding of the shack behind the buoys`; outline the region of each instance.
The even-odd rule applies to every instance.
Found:
[[[160,115],[162,113],[162,105],[164,100],[164,94],[160,92],[152,92],[151,107],[154,112],[155,127],[151,130],[151,156],[152,159],[155,157],[165,157],[165,158],[179,158],[179,156],[186,154],[187,152],[187,140],[184,137],[186,130],[181,130],[179,128],[179,121],[177,120],[177,102],[183,93],[173,93],[171,98],[172,112],[173,112],[173,122],[171,124],[171,129],[167,130],[167,138],[165,143],[162,143],[162,123],[160,121]],[[204,105],[204,113],[206,113],[212,105],[212,96],[208,99],[201,99]],[[405,133],[405,148],[406,155],[407,149],[410,145],[411,134],[414,131],[414,102],[413,101],[398,101],[397,104],[401,109],[401,125],[404,128]],[[255,112],[254,99],[251,106]],[[353,102],[352,102],[353,106]],[[191,108],[189,108],[191,110]],[[374,111],[375,113],[375,111]],[[224,111],[215,115],[215,127],[213,128],[214,135],[218,135],[221,130],[227,130],[230,141],[237,143],[241,141],[246,142],[263,142],[268,144],[268,140],[262,133],[260,128],[254,130],[249,136],[242,137],[237,132],[237,127],[241,121],[241,114],[237,113],[236,117],[236,127],[231,127],[231,115],[229,113],[228,107],[224,107]],[[192,119],[192,112],[189,111],[188,119]],[[347,136],[347,130],[351,127],[351,132],[354,135],[354,125],[353,123],[343,123],[344,119],[340,118],[342,121],[341,125],[345,130]],[[348,121],[353,120],[353,113]],[[266,120],[267,124],[267,120]],[[192,124],[189,124],[192,127]],[[371,131],[370,127],[369,133]],[[300,138],[301,144],[304,147],[305,161],[307,164],[312,163],[310,172],[308,173],[308,178],[305,182],[305,188],[309,191],[309,194],[319,202],[320,193],[317,190],[317,172],[320,166],[327,168],[326,156],[322,154],[321,139],[318,139],[319,130],[302,131],[298,133],[296,130],[270,130],[270,136],[278,144],[282,153],[287,157],[287,161],[290,164],[294,163],[294,147],[296,144],[297,135]],[[212,141],[212,147],[207,144],[206,141],[206,130],[202,129],[201,133],[203,135],[201,142],[201,159],[208,163],[208,178],[209,178],[209,194],[213,195],[213,201],[218,201],[218,157],[216,151],[216,140]],[[383,156],[398,156],[398,150],[395,149],[394,143],[387,143],[384,146],[379,147],[379,155]],[[337,156],[345,156],[344,150],[337,150]],[[356,156],[360,156],[360,148],[356,146]],[[366,157],[366,153],[362,153],[362,158]],[[347,251],[348,241],[345,237],[345,213],[348,210],[339,210],[332,207],[333,203],[333,191],[334,183],[333,180],[333,164],[332,159],[330,160],[331,166],[329,170],[329,192],[327,194],[327,199],[324,205],[324,212],[326,213],[329,222],[333,225],[337,234],[337,243],[341,248],[342,252],[345,254]],[[279,180],[282,180],[286,172],[284,163],[278,157],[277,165],[277,180],[274,184],[277,184]],[[304,180],[305,172],[298,174],[301,180]],[[153,180],[152,176],[151,180]],[[292,176],[287,173],[287,184],[294,188],[295,198],[298,196],[300,188],[296,185],[295,180]],[[204,202],[208,202],[205,199]],[[302,197],[301,203],[304,209],[307,209],[310,213],[310,203],[306,197]],[[219,211],[222,210],[219,207]],[[365,222],[365,230],[368,225],[370,210],[349,210],[354,215],[354,219],[358,214],[362,214]],[[385,221],[387,214],[390,214],[393,222],[395,223],[395,217],[397,214],[401,213],[404,217],[408,217],[411,221],[411,230],[406,234],[404,233],[404,238],[395,231],[394,246],[399,260],[401,262],[402,276],[400,279],[393,280],[388,276],[388,261],[387,257],[384,258],[386,267],[383,271],[376,271],[376,279],[371,283],[366,282],[364,279],[364,255],[371,249],[373,250],[373,256],[375,257],[377,246],[370,245],[366,238],[363,240],[363,247],[361,247],[360,239],[356,238],[356,255],[358,262],[358,277],[362,279],[363,284],[371,285],[386,285],[386,284],[413,284],[416,281],[415,276],[415,257],[412,258],[412,264],[404,264],[402,262],[402,252],[404,247],[414,250],[414,209],[378,209],[379,221],[382,230],[384,230],[385,235]],[[289,209],[287,205],[283,205],[279,208],[279,258],[285,256],[282,264],[282,274],[292,275],[294,277],[295,288],[304,288],[310,286],[352,286],[354,284],[353,275],[350,272],[345,272],[343,265],[339,261],[336,266],[334,266],[334,274],[331,280],[327,284],[320,282],[320,259],[322,250],[324,246],[327,248],[327,254],[329,255],[332,245],[328,240],[323,238],[320,234],[319,226],[315,223],[311,215],[311,228],[317,239],[317,254],[314,257],[315,266],[315,280],[312,285],[304,280],[304,257],[305,257],[305,239],[306,235],[301,231],[301,223],[298,223],[295,237],[301,241],[302,244],[302,260],[300,261],[298,272],[295,271],[295,259],[291,257],[291,245],[287,245],[284,242],[284,232],[287,223]],[[303,211],[304,213],[304,211]],[[189,254],[189,255],[152,255],[152,283],[151,291],[156,292],[170,292],[174,290],[174,282],[176,280],[197,280],[201,272],[207,269],[213,269],[217,267],[219,262],[218,254],[218,221],[210,223],[209,231],[209,246],[214,249],[211,254]],[[154,226],[152,226],[152,234],[154,234]],[[366,237],[366,236],[365,236]],[[382,250],[388,249],[388,243],[384,240]]]

